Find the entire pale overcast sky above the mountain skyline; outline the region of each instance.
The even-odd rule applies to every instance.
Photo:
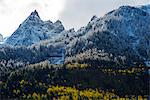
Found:
[[[65,28],[78,29],[93,15],[103,16],[121,5],[150,4],[150,0],[0,0],[0,33],[11,35],[35,9],[43,20],[60,19]]]

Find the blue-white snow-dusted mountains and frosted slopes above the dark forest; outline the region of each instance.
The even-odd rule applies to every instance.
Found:
[[[0,59],[139,66],[150,61],[150,5],[121,6],[80,28],[42,21],[35,10],[0,47]],[[149,66],[149,64],[147,64]]]

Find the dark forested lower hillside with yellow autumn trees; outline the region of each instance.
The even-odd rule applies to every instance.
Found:
[[[7,73],[3,73],[1,77],[1,97],[62,100],[148,99],[148,77],[146,67],[99,68],[78,63],[53,65],[42,62],[16,70],[7,69]]]

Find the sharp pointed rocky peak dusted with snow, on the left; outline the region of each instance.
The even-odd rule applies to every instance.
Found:
[[[6,40],[5,44],[13,46],[29,46],[41,40],[51,38],[64,30],[62,23],[58,20],[42,21],[35,10],[20,24],[19,28]]]

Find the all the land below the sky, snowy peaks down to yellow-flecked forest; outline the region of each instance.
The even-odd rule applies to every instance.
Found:
[[[33,11],[0,35],[1,100],[149,100],[150,5],[93,16],[78,31]]]

